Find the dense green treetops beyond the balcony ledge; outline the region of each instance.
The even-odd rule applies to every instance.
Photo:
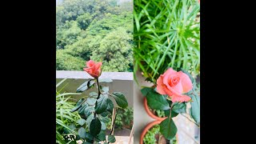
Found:
[[[133,1],[63,0],[56,6],[56,70],[133,71]]]

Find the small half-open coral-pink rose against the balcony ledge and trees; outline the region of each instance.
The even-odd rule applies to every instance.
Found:
[[[102,62],[94,62],[92,60],[86,62],[86,68],[83,68],[90,76],[98,78],[102,74]]]

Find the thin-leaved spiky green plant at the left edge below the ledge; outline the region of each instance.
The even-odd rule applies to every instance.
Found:
[[[65,130],[70,134],[76,135],[77,132],[72,128],[75,126],[75,123],[80,118],[78,113],[71,113],[70,110],[74,108],[74,102],[70,102],[69,95],[74,95],[78,93],[61,93],[61,90],[57,90],[57,87],[62,84],[66,79],[63,79],[61,82],[58,82],[56,85],[56,143],[67,143],[63,136],[65,135]],[[70,141],[71,142],[71,141]]]

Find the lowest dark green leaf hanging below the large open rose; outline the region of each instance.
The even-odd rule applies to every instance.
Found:
[[[160,123],[160,133],[168,140],[175,137],[177,127],[172,118],[168,117]]]

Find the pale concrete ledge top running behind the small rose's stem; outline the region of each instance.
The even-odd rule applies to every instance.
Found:
[[[89,79],[93,78],[85,71],[70,71],[70,70],[56,70],[56,78],[74,78],[74,79]],[[102,72],[100,79],[111,78],[113,80],[134,80],[134,74],[132,72]]]

